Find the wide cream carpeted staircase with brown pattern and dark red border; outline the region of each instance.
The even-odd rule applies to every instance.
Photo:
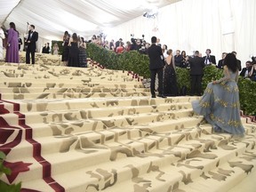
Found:
[[[22,192],[225,192],[256,172],[252,118],[244,138],[213,133],[197,97],[151,99],[127,71],[36,58],[0,63],[1,179]]]

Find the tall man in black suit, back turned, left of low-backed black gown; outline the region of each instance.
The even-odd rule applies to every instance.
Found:
[[[164,55],[160,46],[156,45],[156,36],[151,37],[151,46],[148,48],[149,69],[150,69],[150,92],[152,98],[156,98],[155,84],[156,74],[158,76],[158,97],[165,98],[163,92],[163,68]]]

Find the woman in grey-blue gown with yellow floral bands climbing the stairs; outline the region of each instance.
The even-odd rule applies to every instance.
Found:
[[[209,83],[202,98],[192,101],[194,111],[212,124],[214,132],[244,135],[237,80],[236,56],[228,53],[224,60],[224,77]]]

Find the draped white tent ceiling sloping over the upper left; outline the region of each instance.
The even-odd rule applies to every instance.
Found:
[[[34,24],[39,36],[60,39],[65,30],[81,36],[98,34],[132,20],[152,6],[162,7],[178,0],[0,0],[0,22],[8,28],[14,22],[21,33],[27,22]],[[2,7],[3,12],[2,12]]]

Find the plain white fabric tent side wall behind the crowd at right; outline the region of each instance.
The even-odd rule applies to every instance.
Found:
[[[157,36],[173,51],[198,50],[204,56],[210,48],[217,60],[221,52],[236,51],[244,66],[249,55],[256,56],[255,11],[255,0],[182,0],[161,8],[155,20],[141,16],[113,28],[107,38],[130,40],[131,34],[144,34],[150,42]]]

